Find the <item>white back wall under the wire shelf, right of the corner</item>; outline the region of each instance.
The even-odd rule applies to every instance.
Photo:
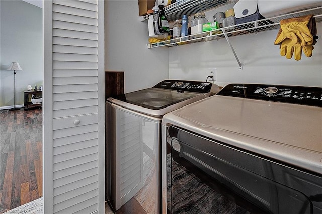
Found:
[[[206,12],[213,21],[216,9]],[[278,45],[274,45],[278,30],[251,35],[230,37],[235,52],[243,64],[243,70],[235,60],[225,39],[200,42],[169,48],[169,78],[205,81],[209,69],[217,68],[217,84],[230,82],[268,83],[322,86],[322,23],[317,24],[319,39],[313,55],[302,59],[286,59],[280,56]]]

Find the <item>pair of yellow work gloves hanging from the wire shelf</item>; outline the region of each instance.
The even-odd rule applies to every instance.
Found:
[[[307,57],[312,56],[316,43],[316,22],[313,15],[281,20],[275,45],[280,45],[281,56],[300,60],[302,51]]]

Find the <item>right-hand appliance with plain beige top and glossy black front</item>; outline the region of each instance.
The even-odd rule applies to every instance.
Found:
[[[200,186],[226,192],[221,196],[242,209],[322,212],[322,88],[229,84],[166,114],[162,126],[162,159],[172,173],[163,196],[168,211],[206,213],[222,206],[212,200],[196,205],[176,192],[179,175],[171,169],[179,164],[185,173],[198,172]],[[164,192],[166,170],[163,165]]]

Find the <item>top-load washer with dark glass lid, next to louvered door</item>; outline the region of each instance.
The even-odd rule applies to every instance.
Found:
[[[161,119],[218,91],[210,82],[164,80],[152,88],[108,98],[106,197],[114,210],[126,206],[123,213],[160,212]]]

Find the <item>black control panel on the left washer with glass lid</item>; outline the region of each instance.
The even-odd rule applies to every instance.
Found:
[[[182,80],[164,80],[154,88],[163,88],[177,90],[178,92],[189,91],[197,93],[208,93],[212,87],[210,82],[182,81]]]

